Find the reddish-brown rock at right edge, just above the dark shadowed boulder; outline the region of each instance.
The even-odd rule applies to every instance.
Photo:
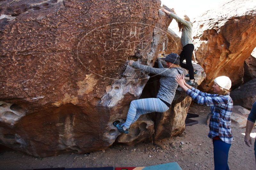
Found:
[[[256,78],[256,48],[251,56],[244,61],[244,83]]]

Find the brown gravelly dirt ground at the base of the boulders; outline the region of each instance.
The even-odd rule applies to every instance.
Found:
[[[48,158],[36,158],[17,151],[0,155],[1,170],[18,170],[52,167],[103,167],[103,166],[151,166],[178,162],[184,170],[214,169],[212,140],[207,137],[209,127],[205,124],[209,107],[192,104],[190,113],[197,113],[199,124],[187,126],[180,136],[166,138],[156,143],[135,146],[114,145],[107,150],[89,154],[67,153]],[[254,127],[252,132],[255,132]],[[244,144],[245,128],[232,128],[234,141],[229,151],[228,165],[231,170],[255,170],[253,144]],[[181,145],[181,142],[183,143]]]

